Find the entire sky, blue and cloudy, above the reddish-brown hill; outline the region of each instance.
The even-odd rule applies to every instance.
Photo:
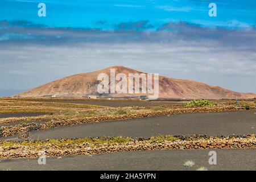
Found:
[[[0,97],[113,65],[256,93],[255,25],[256,1],[0,0]]]

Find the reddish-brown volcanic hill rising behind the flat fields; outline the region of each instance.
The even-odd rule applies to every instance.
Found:
[[[26,92],[17,94],[14,97],[45,97],[53,95],[56,97],[84,97],[88,95],[98,95],[97,86],[100,81],[97,80],[97,77],[100,73],[106,73],[110,78],[110,69],[115,69],[115,75],[118,73],[125,73],[127,77],[129,73],[143,73],[122,66],[114,66],[101,69],[100,71],[80,73],[77,75],[64,77],[59,80],[49,82],[48,84],[38,86]],[[139,95],[147,94],[137,94],[137,96]],[[131,94],[109,94],[109,96],[124,97],[131,96]],[[240,99],[255,97],[256,94],[254,93],[233,92],[232,90],[224,89],[220,86],[210,86],[204,84],[203,82],[159,76],[159,98]]]

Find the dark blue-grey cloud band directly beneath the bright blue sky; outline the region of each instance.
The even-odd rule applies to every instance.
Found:
[[[106,22],[104,22],[106,23]],[[60,42],[158,42],[170,43],[179,40],[198,41],[214,40],[221,44],[236,44],[237,46],[253,47],[256,44],[256,28],[209,28],[187,22],[165,23],[150,30],[152,25],[148,20],[139,22],[122,22],[113,30],[100,28],[61,28],[48,27],[43,24],[33,24],[27,21],[1,21],[0,43],[8,40],[15,42],[23,40],[40,43],[56,44]]]

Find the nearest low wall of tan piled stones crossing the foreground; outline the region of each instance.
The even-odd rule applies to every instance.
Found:
[[[0,158],[38,158],[39,151],[46,156],[90,155],[110,152],[145,151],[145,150],[197,150],[216,148],[256,148],[255,135],[230,137],[175,137],[178,140],[159,142],[152,139],[133,139],[126,143],[80,143],[61,144],[61,142],[35,145],[21,142],[10,144],[0,143]],[[185,139],[182,139],[185,138]],[[38,141],[34,141],[38,142]],[[33,143],[33,142],[31,142]]]

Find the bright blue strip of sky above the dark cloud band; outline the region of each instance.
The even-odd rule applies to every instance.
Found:
[[[37,16],[38,3],[47,6],[46,18]],[[217,17],[208,16],[209,3],[217,5]],[[203,26],[250,27],[256,24],[256,1],[242,0],[1,0],[0,17],[24,19],[51,27],[100,27],[113,29],[121,22],[148,20],[152,28],[167,22],[191,22]]]

